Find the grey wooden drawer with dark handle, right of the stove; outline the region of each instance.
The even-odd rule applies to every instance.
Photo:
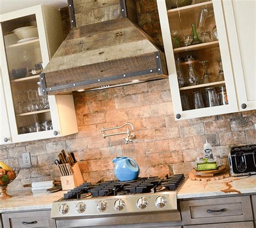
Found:
[[[180,202],[184,225],[253,220],[250,196]]]

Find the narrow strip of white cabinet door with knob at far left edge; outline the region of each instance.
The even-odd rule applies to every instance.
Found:
[[[6,102],[4,97],[3,80],[0,67],[0,145],[11,143],[11,132],[9,126],[9,119],[7,114]]]

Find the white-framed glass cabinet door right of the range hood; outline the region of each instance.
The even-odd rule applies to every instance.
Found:
[[[176,118],[237,110],[221,2],[158,0],[159,4],[166,4],[169,23],[163,25],[164,12],[159,10]]]

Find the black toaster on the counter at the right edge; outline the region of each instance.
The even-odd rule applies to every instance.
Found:
[[[256,174],[256,144],[232,147],[228,161],[232,176]]]

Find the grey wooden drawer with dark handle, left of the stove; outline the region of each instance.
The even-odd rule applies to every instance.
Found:
[[[4,213],[2,219],[4,228],[56,227],[51,211]]]

